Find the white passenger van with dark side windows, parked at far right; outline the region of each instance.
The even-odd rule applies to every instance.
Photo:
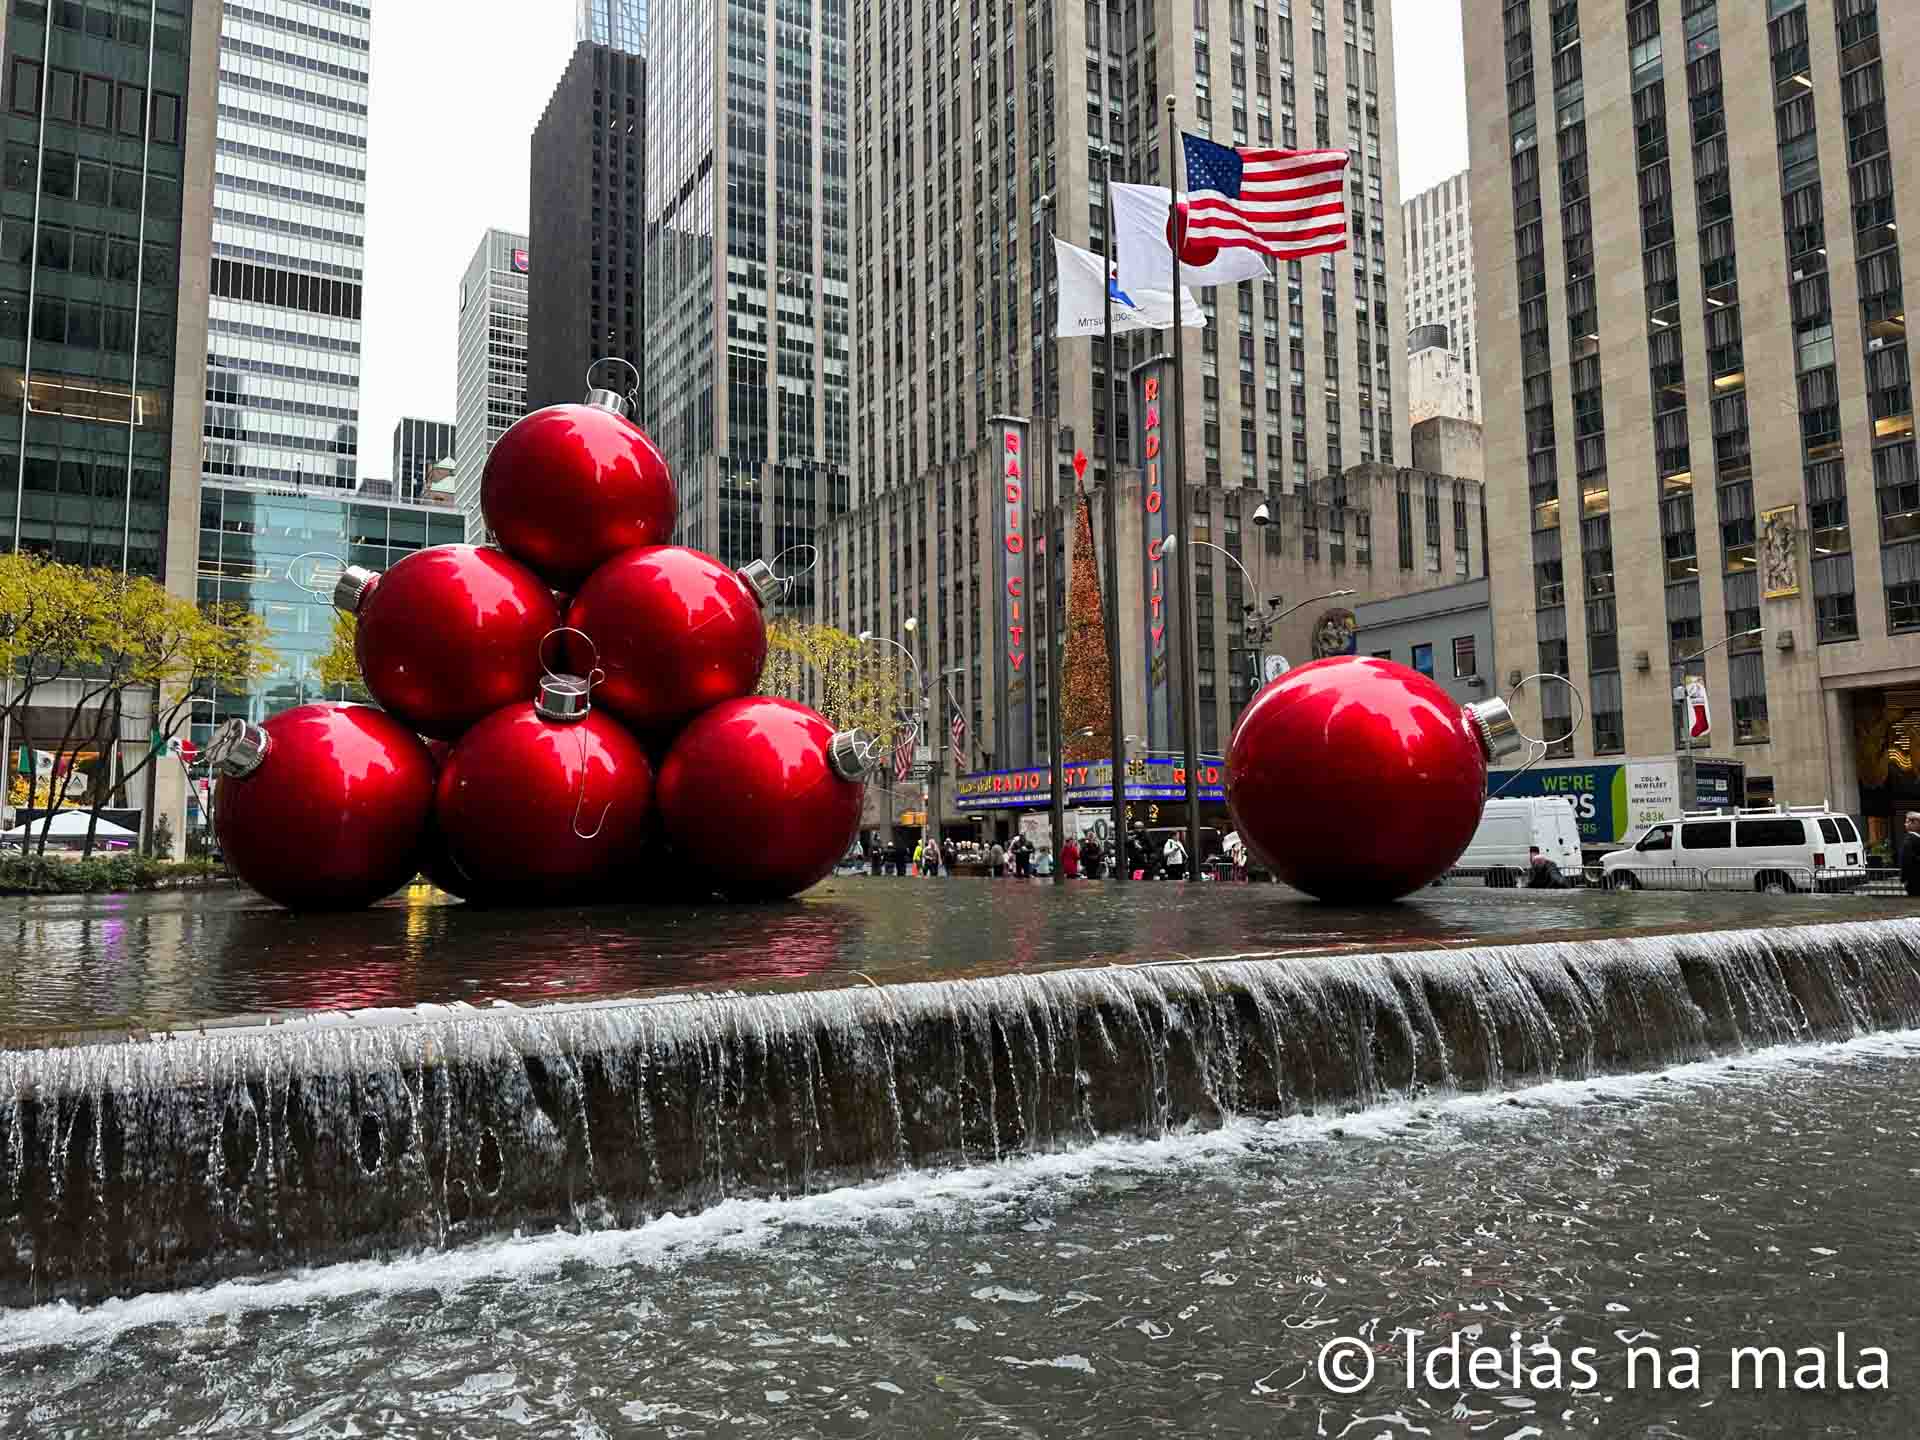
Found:
[[[1701,810],[1601,858],[1609,889],[1851,891],[1866,881],[1851,816],[1824,804]]]

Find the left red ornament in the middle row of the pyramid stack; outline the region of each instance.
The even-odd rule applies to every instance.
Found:
[[[422,735],[455,739],[540,684],[540,643],[561,624],[553,591],[484,545],[434,545],[392,570],[348,568],[334,605],[355,616],[372,697]]]

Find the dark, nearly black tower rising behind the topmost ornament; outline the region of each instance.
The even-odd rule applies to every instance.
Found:
[[[534,131],[528,228],[540,269],[526,276],[528,409],[580,399],[601,357],[647,363],[645,79],[637,56],[582,42]],[[614,390],[632,384],[614,369],[593,378]]]

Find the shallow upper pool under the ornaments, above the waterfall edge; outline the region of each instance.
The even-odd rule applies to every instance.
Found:
[[[1338,908],[1277,885],[847,877],[772,906],[478,910],[420,887],[290,916],[250,891],[0,900],[0,1043],[307,1008],[956,977],[1173,956],[1745,927],[1907,900],[1432,889]]]

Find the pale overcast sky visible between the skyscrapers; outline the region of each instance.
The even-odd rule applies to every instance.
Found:
[[[568,0],[374,10],[363,476],[392,474],[401,415],[453,419],[461,275],[488,227],[526,230],[528,144],[572,48]],[[1459,0],[1400,0],[1394,73],[1400,194],[1415,196],[1467,169]]]

